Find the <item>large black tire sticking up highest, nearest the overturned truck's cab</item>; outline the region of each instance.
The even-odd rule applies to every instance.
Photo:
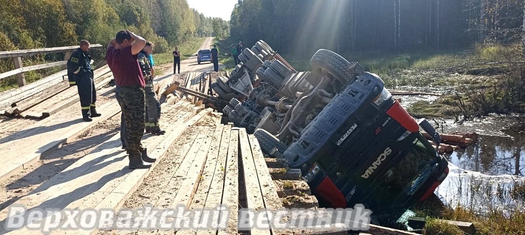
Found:
[[[342,84],[346,84],[354,79],[350,62],[333,51],[325,49],[318,50],[313,54],[310,65],[313,69],[312,72],[325,70]]]

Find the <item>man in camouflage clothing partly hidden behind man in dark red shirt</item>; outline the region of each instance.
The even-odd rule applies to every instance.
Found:
[[[159,114],[158,107],[160,106],[155,89],[153,88],[153,75],[152,66],[150,64],[149,55],[153,52],[153,43],[146,42],[146,46],[138,54],[138,60],[140,69],[142,70],[142,76],[144,77],[146,87],[146,133],[153,133],[155,135],[164,135],[166,131],[163,131],[159,127]]]

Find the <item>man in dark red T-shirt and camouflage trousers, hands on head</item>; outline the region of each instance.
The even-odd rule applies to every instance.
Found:
[[[126,150],[129,154],[129,169],[151,167],[145,162],[156,159],[148,157],[146,149],[142,148],[141,139],[144,134],[145,93],[144,77],[137,60],[137,54],[144,48],[146,40],[135,33],[119,31],[115,39],[108,44],[106,61],[113,72],[113,77],[120,88],[120,107],[127,129]]]

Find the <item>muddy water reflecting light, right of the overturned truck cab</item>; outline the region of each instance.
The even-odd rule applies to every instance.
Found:
[[[418,100],[435,100],[432,96],[401,98],[405,108]],[[450,162],[450,172],[435,192],[443,202],[480,213],[492,209],[525,210],[525,198],[512,193],[517,182],[525,182],[525,135],[506,130],[524,119],[523,116],[491,115],[464,122],[430,120],[442,133],[479,134],[478,143],[445,155]]]

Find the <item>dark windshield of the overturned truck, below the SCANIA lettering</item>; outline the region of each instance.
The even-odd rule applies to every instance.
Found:
[[[416,138],[412,144],[412,149],[407,152],[405,157],[388,170],[382,177],[377,192],[379,195],[393,195],[397,199],[414,195],[417,190],[423,186],[430,176],[432,166],[437,162],[435,151],[421,135]]]

